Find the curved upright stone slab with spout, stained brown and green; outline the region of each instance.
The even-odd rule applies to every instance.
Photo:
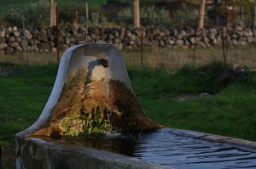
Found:
[[[132,92],[119,50],[111,44],[84,44],[68,48],[62,55],[42,114],[17,136],[57,138],[156,127],[161,126],[144,114]]]

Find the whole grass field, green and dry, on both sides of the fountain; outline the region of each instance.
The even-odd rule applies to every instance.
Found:
[[[218,49],[210,51],[218,57],[215,59],[222,59]],[[251,47],[234,49],[230,52],[230,60],[233,60],[230,64],[256,67],[253,52]],[[139,53],[123,51],[132,87],[143,110],[154,121],[167,127],[256,141],[254,78],[228,86],[219,84],[217,79],[225,66],[211,62],[214,57],[207,55],[211,53],[198,49],[193,65],[189,50],[154,49],[151,53],[145,50],[144,65],[140,65]],[[38,119],[55,82],[58,68],[55,53],[28,54],[27,59],[28,65],[26,55],[0,56],[2,69],[13,68],[4,62],[14,63],[16,67],[15,74],[0,76],[3,168],[15,167],[15,133]],[[186,63],[189,65],[184,66]],[[209,69],[199,73],[198,65],[207,65]]]

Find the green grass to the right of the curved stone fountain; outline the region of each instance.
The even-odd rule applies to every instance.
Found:
[[[154,121],[256,141],[256,83],[235,82],[225,87],[218,82],[224,65],[213,63],[207,68],[202,74],[193,65],[175,73],[131,67],[129,74],[137,98]],[[199,93],[212,95],[193,97]],[[192,99],[180,101],[184,94]]]

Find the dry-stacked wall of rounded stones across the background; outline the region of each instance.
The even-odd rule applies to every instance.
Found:
[[[224,32],[224,33],[223,33]],[[222,45],[222,36],[226,30],[209,28],[197,30],[192,28],[144,28],[131,29],[125,27],[90,27],[87,40],[92,42],[108,42],[119,49],[158,46],[162,48],[207,48]],[[237,26],[229,28],[230,44],[247,45],[256,42],[256,30]],[[24,51],[49,52],[56,51],[55,29],[22,31],[17,27],[0,29],[0,54],[19,54]],[[62,26],[60,30],[61,50],[73,45],[85,43],[86,29],[82,26]],[[24,36],[25,35],[25,36]],[[142,36],[143,35],[143,36]],[[25,38],[26,37],[26,38]],[[143,38],[142,38],[143,37]]]

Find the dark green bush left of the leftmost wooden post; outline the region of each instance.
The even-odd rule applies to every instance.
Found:
[[[42,0],[31,3],[27,8],[11,8],[3,15],[3,20],[10,26],[22,27],[24,20],[26,27],[44,28],[49,25],[49,3]]]

